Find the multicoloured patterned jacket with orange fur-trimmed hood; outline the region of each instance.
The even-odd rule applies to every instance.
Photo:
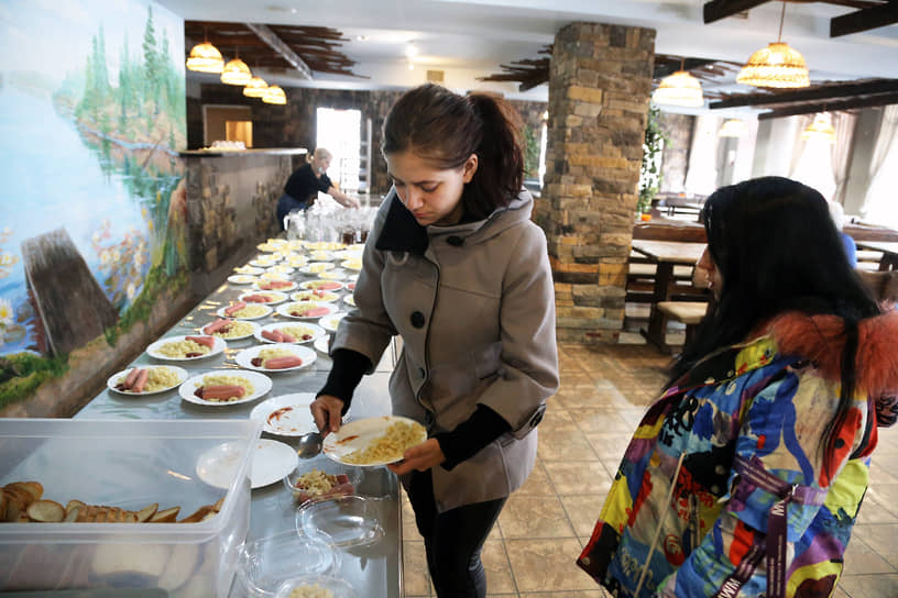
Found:
[[[779,502],[779,594],[831,596],[877,425],[896,420],[895,339],[896,312],[858,325],[856,392],[829,467],[823,439],[839,403],[842,320],[785,314],[754,341],[703,359],[647,410],[578,565],[618,597],[770,596],[767,565],[777,560],[766,556],[766,535]],[[818,499],[788,501],[736,462]]]

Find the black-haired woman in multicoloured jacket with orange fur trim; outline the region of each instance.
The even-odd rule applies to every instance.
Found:
[[[831,596],[895,421],[898,317],[793,180],[703,209],[716,302],[631,441],[578,564],[618,597]]]

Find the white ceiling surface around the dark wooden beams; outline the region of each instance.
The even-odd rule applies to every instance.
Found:
[[[157,0],[185,20],[320,25],[343,32],[340,48],[358,62],[352,70],[370,79],[314,74],[302,81],[291,73],[267,73],[287,86],[348,89],[406,88],[425,81],[427,69],[445,71],[445,85],[459,91],[490,89],[516,99],[546,100],[540,85],[521,93],[517,84],[481,82],[501,64],[539,58],[556,32],[572,21],[651,27],[655,52],[743,63],[776,41],[781,4],[768,2],[711,24],[702,22],[704,0]],[[799,49],[811,81],[898,78],[898,25],[843,37],[829,37],[830,19],[854,9],[787,3],[782,40]],[[360,41],[365,36],[366,41]],[[408,69],[406,45],[418,55]],[[265,77],[265,74],[262,75]],[[215,76],[190,74],[197,80]],[[735,86],[733,89],[751,91]]]

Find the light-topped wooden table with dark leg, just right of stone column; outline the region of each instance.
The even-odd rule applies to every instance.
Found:
[[[665,353],[670,347],[665,342],[667,324],[664,313],[658,310],[660,301],[670,298],[670,283],[674,280],[674,266],[693,266],[704,252],[704,243],[682,243],[679,241],[633,241],[633,251],[648,257],[656,264],[655,287],[651,296],[651,312],[648,317],[648,330],[639,332],[646,341]]]

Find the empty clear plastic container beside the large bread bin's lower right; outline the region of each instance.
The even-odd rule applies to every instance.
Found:
[[[247,542],[240,550],[240,596],[273,598],[284,582],[340,571],[340,553],[324,534],[288,530]]]

